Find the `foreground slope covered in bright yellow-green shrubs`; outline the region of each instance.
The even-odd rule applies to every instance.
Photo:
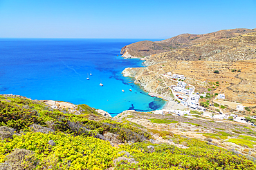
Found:
[[[109,118],[87,105],[0,95],[0,169],[256,168],[253,157],[159,129],[163,122],[165,127],[181,123],[152,116],[125,111]],[[141,118],[147,126],[135,123]],[[249,149],[255,143],[250,136],[239,138]]]

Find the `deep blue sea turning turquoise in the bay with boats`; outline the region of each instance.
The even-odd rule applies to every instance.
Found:
[[[0,39],[0,94],[86,104],[112,116],[128,109],[160,109],[164,100],[148,96],[132,78],[122,76],[126,67],[143,67],[143,61],[120,56],[122,47],[137,41],[141,39]]]

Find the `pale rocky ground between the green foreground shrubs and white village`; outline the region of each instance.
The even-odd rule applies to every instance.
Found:
[[[175,120],[179,123],[152,123],[151,120],[149,120],[151,118]],[[250,131],[256,133],[256,128],[250,125],[236,123],[229,120],[214,120],[203,116],[201,116],[201,118],[196,118],[194,116],[176,116],[172,114],[167,114],[163,116],[137,111],[123,111],[121,114],[118,114],[118,116],[115,116],[114,119],[129,120],[149,129],[156,129],[158,131],[170,131],[173,134],[179,134],[181,136],[184,136],[185,138],[197,138],[199,140],[206,139],[208,141],[209,139],[203,136],[203,134],[201,133],[216,134],[218,133],[218,131],[225,131],[228,134],[232,135],[228,136],[228,139],[239,138],[239,135],[251,136],[250,134],[248,134],[248,132]],[[196,125],[191,125],[189,123],[194,123]],[[221,128],[225,130],[219,130],[216,128]],[[239,131],[241,134],[237,134],[232,130]],[[154,138],[158,142],[170,142],[170,140],[165,140],[157,134],[154,135]],[[253,156],[256,158],[256,145],[254,148],[242,147],[240,145],[236,145],[235,143],[227,142],[228,139],[223,140],[211,138],[210,143],[211,145],[217,145],[219,147],[223,147],[225,149],[236,151],[244,155]],[[170,144],[175,145],[172,141]]]

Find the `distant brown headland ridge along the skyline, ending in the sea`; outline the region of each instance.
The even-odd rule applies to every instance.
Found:
[[[233,29],[220,30],[208,34],[181,34],[163,41],[140,41],[122,47],[120,54],[126,58],[145,57],[152,54],[159,54],[162,52],[169,52],[175,49],[184,47],[191,47],[192,45],[199,45],[207,43],[208,41],[221,41],[222,39],[232,39],[235,36],[256,32],[255,29]]]

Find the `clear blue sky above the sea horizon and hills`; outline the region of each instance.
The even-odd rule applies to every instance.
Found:
[[[167,39],[256,28],[255,0],[0,0],[1,38]]]

